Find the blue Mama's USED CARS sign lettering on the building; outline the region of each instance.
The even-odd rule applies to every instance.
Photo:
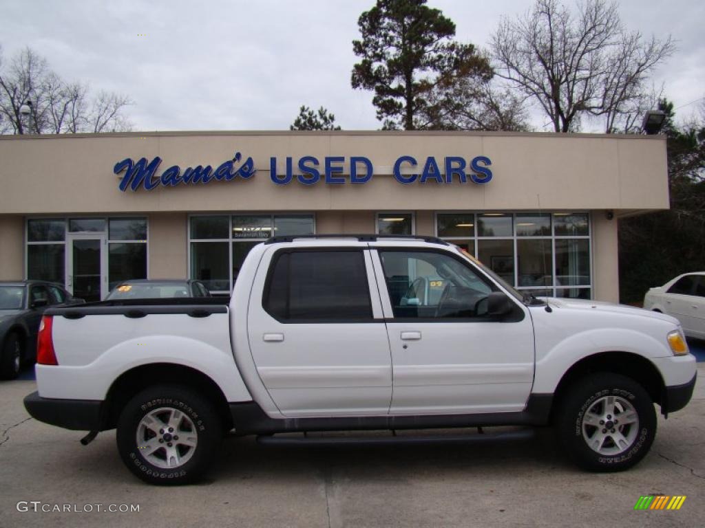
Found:
[[[428,156],[424,160],[417,160],[413,156],[400,156],[394,162],[391,174],[402,184],[451,184],[454,181],[486,184],[492,180],[492,171],[489,168],[491,164],[486,156],[470,158],[470,163],[462,156],[446,156],[442,161],[436,161],[434,156]],[[116,163],[113,172],[118,176],[122,174],[119,189],[123,192],[128,189],[136,191],[142,187],[152,191],[157,187],[208,184],[214,181],[231,182],[238,178],[249,180],[257,172],[252,158],[243,161],[239,152],[215,169],[212,165],[197,165],[182,170],[178,165],[171,165],[160,172],[159,165],[159,156],[151,161],[147,158],[137,161],[125,158]],[[333,185],[365,184],[372,180],[375,173],[380,172],[376,172],[372,161],[364,156],[326,156],[320,160],[315,156],[302,156],[298,159],[287,156],[283,161],[276,157],[269,158],[269,177],[278,185],[292,182],[303,185],[320,182]]]

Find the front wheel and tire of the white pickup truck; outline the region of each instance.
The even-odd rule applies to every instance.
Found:
[[[558,442],[582,469],[623,471],[649,453],[656,411],[633,379],[601,372],[580,379],[568,391],[555,427]]]

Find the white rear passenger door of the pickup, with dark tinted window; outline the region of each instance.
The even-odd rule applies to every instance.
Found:
[[[388,413],[391,353],[366,244],[267,251],[247,332],[284,416]]]

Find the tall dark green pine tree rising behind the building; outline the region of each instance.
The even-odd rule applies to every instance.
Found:
[[[455,24],[427,0],[377,0],[357,20],[362,39],[353,51],[353,88],[374,90],[372,103],[385,130],[419,127],[429,112],[429,92],[443,75],[462,71],[489,81],[489,62],[472,44],[452,40]],[[423,126],[421,126],[423,127]]]

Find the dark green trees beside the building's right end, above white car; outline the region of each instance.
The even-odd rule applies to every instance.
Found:
[[[619,225],[620,300],[640,303],[646,290],[685,272],[705,270],[705,122],[679,127],[662,99],[670,210],[624,218]]]

